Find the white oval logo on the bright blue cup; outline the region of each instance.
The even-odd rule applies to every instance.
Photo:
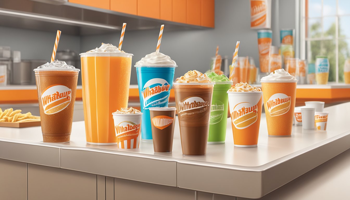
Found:
[[[168,101],[170,94],[170,84],[162,78],[153,78],[147,81],[141,91],[144,99],[144,107],[156,103],[163,104]]]

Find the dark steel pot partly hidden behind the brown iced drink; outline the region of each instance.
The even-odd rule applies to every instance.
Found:
[[[75,68],[82,70],[81,64],[80,64],[80,57],[78,56],[75,51],[66,49],[63,51],[57,51],[56,52],[56,60],[64,61],[69,65],[73,65]],[[81,72],[78,76],[78,85],[82,84],[82,75]]]

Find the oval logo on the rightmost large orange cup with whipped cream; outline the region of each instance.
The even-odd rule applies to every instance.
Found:
[[[272,95],[266,102],[268,112],[271,117],[287,113],[290,108],[290,96],[283,93]]]

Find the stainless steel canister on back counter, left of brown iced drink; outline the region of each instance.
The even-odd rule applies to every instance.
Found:
[[[11,71],[10,84],[29,85],[31,82],[31,62],[30,60],[22,60],[19,63],[13,63]]]

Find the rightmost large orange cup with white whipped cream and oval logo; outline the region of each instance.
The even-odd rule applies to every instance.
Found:
[[[284,69],[261,78],[268,136],[292,134],[297,80]]]

